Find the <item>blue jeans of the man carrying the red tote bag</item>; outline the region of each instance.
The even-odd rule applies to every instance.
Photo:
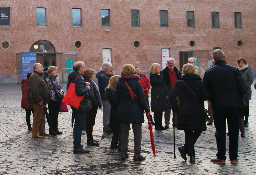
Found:
[[[82,135],[82,128],[84,126],[84,119],[86,112],[80,112],[80,110],[77,110],[73,106],[71,106],[72,109],[72,116],[74,116],[75,124],[74,124],[74,130],[73,130],[73,136],[74,136],[74,148],[78,149],[81,147],[81,135]]]

